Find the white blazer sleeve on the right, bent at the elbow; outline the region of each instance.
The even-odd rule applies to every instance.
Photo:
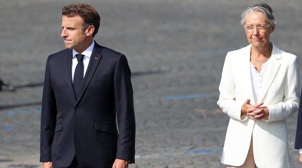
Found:
[[[265,121],[284,120],[297,112],[299,108],[300,80],[296,56],[291,60],[288,67],[284,87],[283,101],[277,104],[267,105],[269,116],[268,120]]]

